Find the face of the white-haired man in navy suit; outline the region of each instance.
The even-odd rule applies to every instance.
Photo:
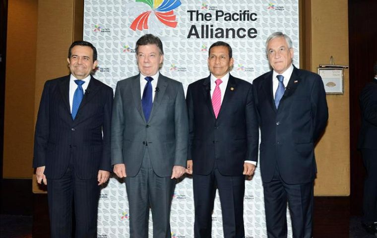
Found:
[[[267,55],[271,67],[277,73],[281,74],[291,66],[293,49],[288,48],[284,37],[277,37],[268,43]]]

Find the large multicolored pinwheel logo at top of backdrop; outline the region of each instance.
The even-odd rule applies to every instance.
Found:
[[[180,0],[136,0],[138,2],[144,2],[148,4],[151,8],[149,11],[145,11],[138,15],[131,23],[130,28],[134,31],[143,29],[148,29],[148,21],[156,21],[158,19],[161,23],[166,26],[175,28],[178,24],[176,21],[176,15],[174,14],[174,9],[179,7],[182,3]],[[149,15],[154,13],[156,17],[150,18]]]

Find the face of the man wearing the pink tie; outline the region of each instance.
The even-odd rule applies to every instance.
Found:
[[[216,78],[221,78],[228,73],[229,68],[233,65],[233,61],[233,58],[229,58],[228,47],[212,47],[208,57],[209,71],[211,71]]]

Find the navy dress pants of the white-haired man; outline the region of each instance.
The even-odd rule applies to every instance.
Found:
[[[263,182],[268,238],[287,237],[287,201],[294,238],[312,238],[314,182],[287,184],[276,167],[270,182]]]

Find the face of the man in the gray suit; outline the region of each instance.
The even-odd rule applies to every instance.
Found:
[[[155,75],[164,60],[164,56],[160,55],[157,45],[139,46],[137,51],[136,59],[140,73],[145,76]]]

